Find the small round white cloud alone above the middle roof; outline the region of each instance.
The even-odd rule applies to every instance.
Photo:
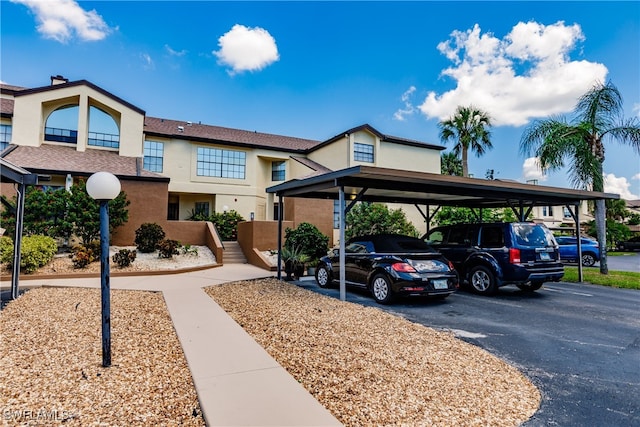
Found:
[[[259,71],[280,59],[275,39],[263,28],[236,24],[218,39],[213,51],[218,63],[230,67],[230,74]]]

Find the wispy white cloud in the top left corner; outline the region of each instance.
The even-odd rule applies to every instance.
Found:
[[[77,36],[82,41],[104,39],[112,30],[95,10],[86,11],[74,0],[11,0],[27,6],[45,38],[66,43]]]

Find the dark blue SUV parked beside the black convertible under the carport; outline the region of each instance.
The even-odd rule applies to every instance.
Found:
[[[564,276],[551,231],[533,222],[456,224],[437,227],[423,239],[453,263],[460,283],[491,295],[500,286],[535,291]]]

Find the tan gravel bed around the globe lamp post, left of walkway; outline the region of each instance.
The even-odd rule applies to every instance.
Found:
[[[4,425],[204,425],[159,293],[111,292],[109,368],[99,289],[27,291],[0,312],[0,336]]]

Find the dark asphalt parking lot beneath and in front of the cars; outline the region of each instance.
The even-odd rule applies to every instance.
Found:
[[[337,287],[297,283],[339,298]],[[388,306],[348,289],[347,300],[451,331],[516,366],[543,396],[526,427],[640,426],[640,291],[558,282],[534,293],[507,286],[493,297],[460,291]]]

